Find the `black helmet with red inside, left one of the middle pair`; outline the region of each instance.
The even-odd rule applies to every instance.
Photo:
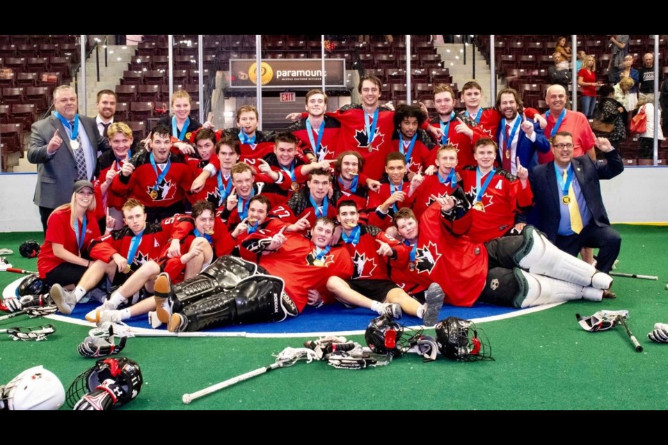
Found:
[[[374,353],[398,357],[411,349],[421,334],[421,329],[407,328],[388,314],[383,314],[369,323],[364,339]]]

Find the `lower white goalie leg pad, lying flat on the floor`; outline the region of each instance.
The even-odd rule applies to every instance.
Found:
[[[518,308],[580,299],[603,300],[601,289],[528,273],[520,268],[515,268],[513,272],[519,285],[519,291],[514,300],[514,306]]]

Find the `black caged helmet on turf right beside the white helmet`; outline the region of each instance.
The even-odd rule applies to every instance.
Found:
[[[139,364],[127,357],[100,359],[95,366],[87,369],[74,379],[72,385],[67,389],[67,405],[74,407],[82,397],[97,387],[105,380],[111,379],[120,388],[120,393],[115,394],[118,401],[114,406],[123,405],[132,401],[141,391],[143,378]]]

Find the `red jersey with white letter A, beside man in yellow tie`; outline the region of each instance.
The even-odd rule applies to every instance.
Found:
[[[477,168],[469,165],[461,171],[464,193],[475,203]],[[489,173],[487,174],[489,175]],[[487,179],[480,179],[481,188]],[[531,207],[534,195],[527,181],[522,188],[520,180],[506,170],[496,170],[482,195],[482,207],[473,207],[473,223],[468,236],[472,241],[486,243],[503,236],[516,223],[516,216]]]

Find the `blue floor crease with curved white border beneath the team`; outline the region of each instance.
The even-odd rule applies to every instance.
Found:
[[[14,282],[11,282],[3,290],[3,298],[13,296],[15,289],[24,277],[19,277]],[[559,303],[561,304],[561,303]],[[88,302],[79,304],[74,308],[74,312],[69,316],[50,315],[47,318],[52,318],[58,321],[67,323],[75,323],[79,325],[86,325],[93,327],[92,323],[85,320],[84,316],[90,310],[95,309],[97,303]],[[474,307],[454,307],[445,305],[440,311],[439,320],[447,316],[457,316],[473,320],[476,323],[484,323],[488,321],[503,320],[532,312],[542,311],[555,307],[556,305],[544,305],[539,307],[532,307],[529,309],[513,309],[510,307],[499,307],[493,305],[485,305],[479,303]],[[306,307],[304,312],[296,317],[284,321],[283,323],[257,323],[254,325],[234,325],[219,328],[207,332],[216,332],[221,337],[320,337],[323,335],[337,334],[337,335],[356,335],[364,334],[365,328],[375,314],[368,309],[344,309],[340,305],[328,305],[319,309],[312,309]],[[408,326],[420,325],[420,319],[411,316],[404,316],[402,323]],[[148,316],[137,316],[126,321],[136,330],[142,332],[153,332],[157,336],[169,336],[166,332],[166,327],[159,327],[158,330],[153,330],[148,324]],[[156,331],[161,332],[158,334]],[[188,337],[207,337],[207,332],[193,332],[188,333]]]

